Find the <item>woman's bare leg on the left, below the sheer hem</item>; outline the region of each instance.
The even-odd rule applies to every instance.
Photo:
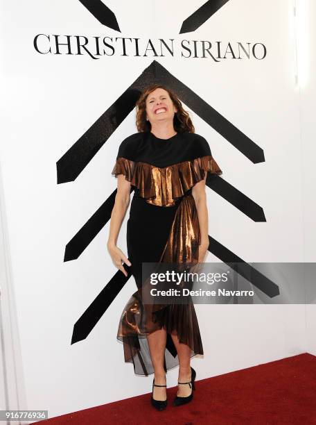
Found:
[[[155,384],[166,385],[164,370],[164,354],[166,350],[167,333],[164,328],[147,335],[150,357],[155,369]],[[166,400],[166,387],[154,387],[154,399]]]

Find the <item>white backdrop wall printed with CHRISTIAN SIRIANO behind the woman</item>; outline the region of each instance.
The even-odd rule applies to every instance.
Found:
[[[119,316],[136,289],[133,278],[88,337],[71,345],[73,325],[116,273],[106,248],[108,224],[78,259],[64,262],[66,244],[116,188],[111,171],[120,142],[137,131],[135,110],[74,181],[57,184],[56,162],[152,60],[265,153],[265,162],[252,163],[184,104],[196,132],[209,141],[222,178],[262,206],[267,220],[254,222],[207,188],[210,235],[247,262],[315,260],[315,229],[309,233],[315,212],[310,197],[315,62],[308,63],[313,92],[306,85],[300,93],[293,2],[230,0],[198,29],[184,34],[179,34],[182,22],[203,1],[104,3],[115,13],[121,33],[100,24],[77,0],[1,3],[1,214],[7,233],[3,250],[10,253],[5,267],[11,270],[3,277],[2,298],[20,341],[15,343],[15,365],[20,368],[7,391],[17,389],[10,408],[48,409],[50,417],[150,391],[151,381],[135,377],[132,365],[123,363],[122,345],[116,341]],[[309,5],[315,9],[311,0]],[[310,25],[310,37],[313,31]],[[40,54],[33,45],[37,34],[51,35],[51,40],[54,34],[89,40],[139,38],[142,54],[149,38],[173,38],[177,47],[175,56],[154,57],[152,51],[121,56],[117,51],[96,60],[88,54]],[[262,43],[267,55],[257,60],[227,54],[218,62],[184,58],[181,51],[187,52],[179,47],[184,39],[221,41],[225,46]],[[41,40],[41,48],[48,48]],[[125,253],[126,219],[119,237]],[[209,253],[207,261],[218,258]],[[6,297],[9,290],[14,299]],[[16,315],[10,303],[16,305]],[[193,360],[198,378],[308,349],[315,353],[312,307],[306,332],[303,305],[196,306],[205,353]],[[176,382],[173,370],[168,385]],[[1,403],[5,405],[5,397]]]

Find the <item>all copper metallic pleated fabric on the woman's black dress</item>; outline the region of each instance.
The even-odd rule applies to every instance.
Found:
[[[112,174],[124,174],[125,178],[139,188],[141,197],[155,206],[173,206],[175,199],[182,197],[176,210],[168,240],[161,252],[159,263],[177,263],[179,269],[196,265],[199,256],[200,226],[198,211],[191,189],[204,178],[204,172],[222,174],[211,156],[196,158],[159,168],[147,163],[133,163],[118,158]],[[155,241],[153,241],[155,243]],[[126,304],[121,319],[117,339],[123,342],[126,363],[133,363],[135,374],[154,373],[147,335],[158,329],[166,329],[168,338],[164,367],[167,371],[179,360],[170,334],[177,335],[179,342],[191,348],[191,357],[203,354],[202,340],[195,308],[190,298],[186,303],[144,303],[143,294],[150,290],[149,281],[137,290]]]

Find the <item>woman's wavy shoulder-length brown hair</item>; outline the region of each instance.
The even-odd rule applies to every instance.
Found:
[[[148,94],[156,90],[157,88],[162,88],[168,92],[170,99],[173,101],[174,106],[177,108],[177,113],[173,117],[173,127],[178,133],[184,133],[188,131],[189,133],[195,133],[195,128],[193,122],[191,121],[190,116],[184,110],[181,101],[177,97],[177,94],[164,84],[151,84],[141,92],[139,99],[137,100],[137,115],[136,115],[136,125],[138,131],[150,131],[151,124],[146,119],[146,99]]]

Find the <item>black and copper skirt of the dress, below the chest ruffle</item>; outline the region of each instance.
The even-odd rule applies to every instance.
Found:
[[[203,354],[200,328],[191,299],[185,304],[143,303],[142,263],[198,263],[200,227],[191,191],[175,201],[175,206],[161,207],[147,203],[137,195],[132,199],[128,219],[128,257],[137,292],[126,304],[117,339],[123,342],[124,359],[134,365],[134,373],[148,376],[154,372],[147,335],[166,330],[164,368],[179,365],[171,335],[191,348],[191,357]]]

